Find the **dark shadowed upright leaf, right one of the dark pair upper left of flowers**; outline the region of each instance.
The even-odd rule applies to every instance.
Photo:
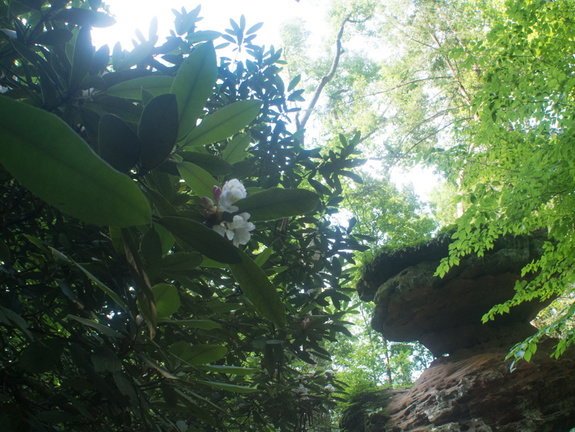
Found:
[[[138,125],[138,138],[144,172],[168,158],[178,138],[178,106],[173,94],[156,96],[146,105]]]

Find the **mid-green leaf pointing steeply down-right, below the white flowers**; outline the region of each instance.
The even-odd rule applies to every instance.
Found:
[[[238,253],[241,262],[230,264],[230,269],[243,294],[262,316],[276,324],[285,324],[285,308],[276,287],[249,256],[239,249]]]

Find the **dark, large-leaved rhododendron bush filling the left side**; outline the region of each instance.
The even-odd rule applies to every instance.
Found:
[[[300,145],[257,24],[176,11],[164,43],[152,24],[110,53],[100,3],[0,2],[0,424],[305,430],[337,384],[303,365],[346,331],[365,249],[329,219],[359,135]],[[245,247],[212,229],[245,214]]]

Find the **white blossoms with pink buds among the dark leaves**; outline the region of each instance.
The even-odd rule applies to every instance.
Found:
[[[224,212],[235,213],[239,210],[235,203],[247,196],[244,185],[238,179],[232,179],[221,188],[214,186],[213,194],[213,201],[208,197],[202,198],[206,209],[206,219],[213,223],[212,229],[221,236],[227,237],[235,246],[247,244],[251,237],[250,231],[256,227],[248,222],[250,214],[243,212],[233,215],[231,220],[224,218]]]

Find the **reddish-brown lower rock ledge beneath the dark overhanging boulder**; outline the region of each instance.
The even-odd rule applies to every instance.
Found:
[[[345,432],[568,432],[575,427],[575,350],[548,341],[513,372],[506,351],[435,360],[409,389],[358,397]],[[378,409],[379,407],[379,409]]]

